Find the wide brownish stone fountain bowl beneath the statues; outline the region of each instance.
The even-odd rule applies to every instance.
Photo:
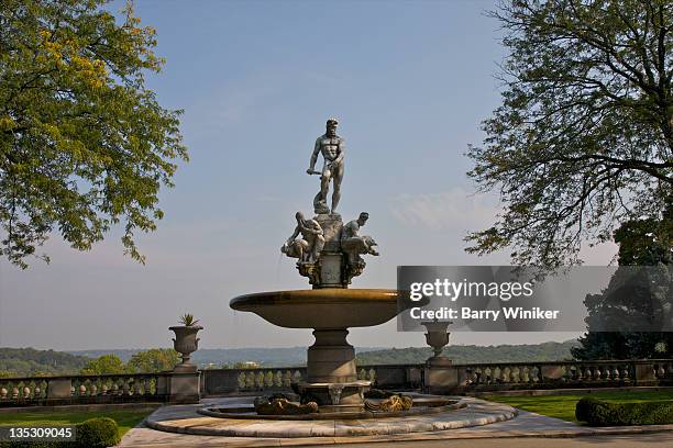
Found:
[[[397,291],[388,289],[316,289],[240,295],[233,310],[255,313],[285,328],[368,327],[388,322],[399,311]]]

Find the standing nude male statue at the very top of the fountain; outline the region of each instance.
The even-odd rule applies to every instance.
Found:
[[[327,198],[330,192],[330,180],[334,187],[332,192],[332,209],[331,213],[336,212],[336,205],[341,199],[341,180],[343,179],[343,157],[345,155],[345,142],[336,135],[336,119],[329,119],[326,124],[326,133],[316,139],[313,154],[309,168],[306,170],[309,175],[320,175],[320,191],[313,199],[313,209],[316,213],[330,213],[327,206]],[[322,170],[316,171],[316,163],[318,154],[322,154],[324,164]]]

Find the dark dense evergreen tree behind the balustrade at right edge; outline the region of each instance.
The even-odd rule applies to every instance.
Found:
[[[587,329],[580,338],[580,347],[571,351],[577,359],[666,358],[673,356],[673,333],[629,332],[630,324],[662,318],[673,320],[673,208],[661,222],[635,220],[615,232],[622,266],[652,266],[635,280],[632,273],[618,270],[607,290],[589,294],[584,303],[588,310]],[[652,288],[654,285],[655,288]],[[610,320],[624,323],[624,332],[600,332]],[[611,325],[614,327],[615,325]],[[642,324],[640,324],[642,327]]]

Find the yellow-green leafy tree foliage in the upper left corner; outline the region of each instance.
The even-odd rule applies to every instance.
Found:
[[[145,88],[164,63],[155,31],[104,3],[0,2],[0,255],[22,268],[53,229],[87,250],[118,223],[144,261],[134,234],[156,228],[159,188],[187,159],[180,111]]]

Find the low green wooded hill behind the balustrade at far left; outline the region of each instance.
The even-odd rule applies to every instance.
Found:
[[[0,347],[0,377],[73,374],[89,360],[65,351]]]

